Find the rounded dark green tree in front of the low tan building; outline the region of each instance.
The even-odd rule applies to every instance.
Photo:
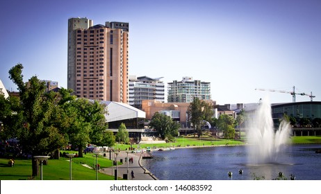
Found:
[[[172,121],[170,116],[156,112],[151,118],[149,127],[154,128],[162,139],[172,139],[172,137],[179,134],[181,125],[176,121]]]

